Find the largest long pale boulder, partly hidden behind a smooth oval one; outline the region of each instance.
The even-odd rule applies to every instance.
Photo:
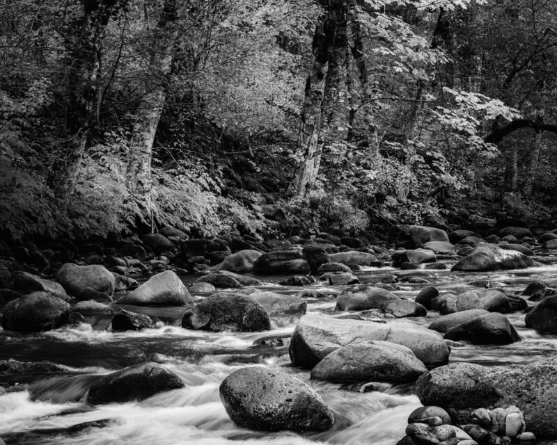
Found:
[[[391,341],[407,346],[426,366],[448,361],[449,350],[437,332],[410,323],[374,323],[351,319],[305,315],[290,341],[294,366],[313,368],[334,350],[362,341]]]

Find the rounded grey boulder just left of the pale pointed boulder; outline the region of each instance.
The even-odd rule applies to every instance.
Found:
[[[79,291],[85,287],[91,287],[97,292],[106,292],[112,296],[116,286],[114,275],[107,268],[98,264],[77,266],[77,264],[66,263],[58,270],[56,282],[60,283],[65,291],[73,296],[79,295]]]

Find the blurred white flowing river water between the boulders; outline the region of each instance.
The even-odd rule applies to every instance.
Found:
[[[362,283],[379,282],[390,268],[359,273]],[[415,273],[415,272],[411,272]],[[489,280],[495,286],[523,290],[528,282],[557,279],[557,266],[491,273],[423,271],[441,293],[473,289],[471,283]],[[298,293],[299,288],[272,284],[281,277],[263,277],[265,289]],[[185,280],[187,281],[187,280]],[[400,296],[416,296],[423,284],[400,284]],[[338,293],[340,287],[314,284],[312,289]],[[308,299],[308,313],[334,314],[334,298]],[[139,308],[132,308],[139,309]],[[106,319],[90,319],[74,327],[40,334],[15,334],[0,329],[0,359],[49,360],[68,368],[63,375],[0,375],[0,437],[11,444],[377,444],[392,445],[405,435],[409,413],[421,406],[414,385],[372,386],[359,392],[356,385],[309,379],[309,371],[290,366],[288,337],[295,319],[274,319],[272,332],[209,333],[179,327],[182,311],[143,308],[162,320],[155,329],[113,333]],[[429,325],[439,314],[402,321]],[[509,346],[453,348],[451,362],[486,366],[521,366],[554,354],[557,337],[524,326],[524,314],[510,314],[522,341]],[[164,322],[163,322],[164,321]],[[389,323],[400,323],[391,319]],[[281,337],[285,343],[262,342]],[[177,373],[185,388],[157,394],[139,403],[90,406],[84,403],[88,387],[102,375],[152,360]],[[227,375],[245,366],[280,366],[308,382],[334,412],[334,425],[320,433],[256,432],[236,426],[219,399],[219,385]],[[17,385],[14,385],[17,382]]]

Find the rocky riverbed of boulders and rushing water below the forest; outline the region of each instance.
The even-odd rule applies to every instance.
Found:
[[[0,437],[472,444],[444,415],[408,426],[437,405],[454,425],[475,425],[470,435],[492,428],[478,416],[495,412],[517,425],[524,416],[515,435],[551,443],[553,234],[455,232],[262,245],[167,233],[65,264],[38,249],[54,280],[5,255]],[[507,431],[492,430],[473,438],[505,443]]]

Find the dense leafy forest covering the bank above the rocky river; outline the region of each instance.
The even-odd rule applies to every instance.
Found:
[[[556,8],[4,0],[3,234],[547,223]]]

